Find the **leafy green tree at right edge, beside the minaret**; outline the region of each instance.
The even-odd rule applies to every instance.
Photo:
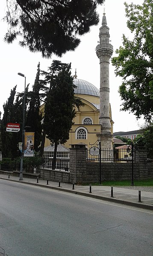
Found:
[[[124,3],[127,27],[133,33],[129,40],[123,35],[123,46],[112,58],[115,74],[122,77],[119,93],[123,111],[131,111],[150,121],[153,115],[153,1],[142,5]]]

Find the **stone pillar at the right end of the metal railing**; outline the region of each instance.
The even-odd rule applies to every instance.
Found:
[[[148,178],[147,150],[137,148],[135,151],[135,163],[139,166],[140,180]]]

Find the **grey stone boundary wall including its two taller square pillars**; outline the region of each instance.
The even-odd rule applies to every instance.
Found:
[[[86,162],[85,145],[74,144],[70,148],[70,172],[41,169],[41,178],[76,184],[100,181],[100,163]],[[133,163],[134,180],[153,178],[153,163],[147,163],[147,151],[136,152]],[[132,179],[132,163],[101,163],[102,181],[124,181]]]

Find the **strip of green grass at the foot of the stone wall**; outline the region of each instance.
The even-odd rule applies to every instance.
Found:
[[[89,185],[88,184],[83,184],[83,185]],[[100,186],[99,183],[91,183],[92,186]],[[131,181],[102,181],[101,183],[102,186],[131,186]],[[141,187],[150,187],[153,186],[153,179],[147,179],[147,180],[142,180],[142,181],[135,181],[134,180],[134,185],[135,186],[141,186]]]

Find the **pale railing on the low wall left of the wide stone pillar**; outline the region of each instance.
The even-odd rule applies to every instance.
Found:
[[[52,169],[53,158],[46,159],[42,158],[41,168]],[[70,170],[70,159],[69,158],[57,158],[56,159],[56,169],[69,171]]]

